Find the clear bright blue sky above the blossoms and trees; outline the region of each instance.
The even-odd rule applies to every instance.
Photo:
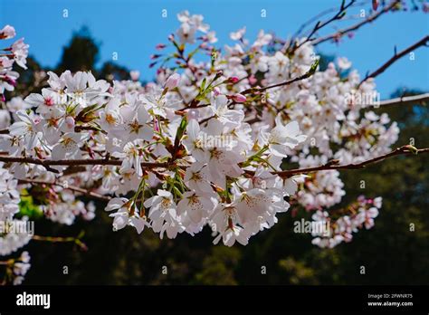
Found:
[[[243,25],[251,40],[260,29],[285,37],[311,16],[339,3],[339,0],[0,0],[0,25],[14,25],[18,36],[30,44],[30,53],[43,66],[59,62],[62,47],[69,43],[72,32],[87,25],[100,43],[100,62],[111,60],[112,53],[118,52],[119,64],[137,69],[142,78],[150,80],[154,71],[148,69],[149,56],[155,52],[157,43],[167,43],[167,35],[179,25],[176,14],[182,10],[204,14],[205,23],[217,33],[217,44],[223,45],[231,43],[229,33]],[[62,16],[64,9],[68,10],[67,18]],[[167,18],[161,16],[163,9],[167,9]],[[266,10],[265,18],[261,17],[262,9]],[[357,13],[352,10],[348,14]],[[325,33],[333,31],[329,26]],[[395,45],[400,51],[428,33],[429,14],[390,13],[362,27],[353,40],[339,45],[324,43],[319,45],[319,51],[346,56],[365,75],[386,62]],[[415,51],[415,61],[405,57],[377,78],[382,99],[400,86],[429,91],[428,48]]]

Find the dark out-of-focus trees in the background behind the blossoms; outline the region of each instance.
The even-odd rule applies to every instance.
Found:
[[[95,69],[98,44],[87,29],[74,33],[64,47],[56,72],[91,71],[103,78],[125,79],[129,71],[113,62]],[[326,57],[328,58],[328,57]],[[331,57],[329,57],[331,58]],[[30,86],[40,65],[29,60],[28,74],[20,86]],[[326,63],[326,62],[325,62]],[[18,87],[16,93],[24,91]],[[27,89],[28,90],[28,89]],[[420,91],[401,89],[392,97]],[[429,111],[419,105],[381,108],[399,123],[396,146],[415,139],[418,148],[429,147]],[[146,230],[136,234],[126,228],[111,231],[108,215],[99,207],[92,222],[62,226],[38,220],[36,234],[77,235],[89,251],[71,243],[28,245],[33,267],[26,284],[427,284],[429,283],[429,156],[395,157],[362,170],[341,172],[348,192],[345,203],[361,194],[382,196],[383,207],[370,231],[354,235],[351,243],[335,249],[319,249],[310,234],[294,234],[293,222],[310,218],[299,211],[279,215],[280,223],[253,236],[252,242],[233,248],[213,245],[211,231],[202,237],[179,235],[159,240]],[[365,180],[366,188],[360,188]],[[410,231],[415,224],[415,232]],[[68,274],[63,273],[63,267]],[[366,274],[360,274],[365,266]],[[166,269],[167,267],[167,273]],[[164,268],[164,269],[163,269]],[[266,270],[266,274],[262,270]],[[164,272],[163,272],[164,271]]]

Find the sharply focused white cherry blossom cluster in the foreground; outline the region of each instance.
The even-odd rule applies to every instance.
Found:
[[[118,196],[106,208],[115,210],[115,229],[129,224],[141,232],[150,226],[161,237],[167,233],[172,238],[184,231],[198,233],[209,224],[231,245],[235,239],[247,243],[277,222],[277,212],[289,208],[284,196],[293,194],[288,189],[292,179],[284,181],[269,169],[280,170],[288,149],[306,139],[296,122],[284,125],[279,116],[275,128],[255,135],[243,121],[243,111],[228,109],[231,100],[220,91],[205,96],[210,102],[205,110],[213,115],[206,124],[195,114],[177,114],[184,110],[176,92],[170,92],[180,80],[177,74],[151,91],[125,94],[106,81],[95,81],[89,72],[48,75],[50,88],[25,99],[35,110],[16,112],[19,121],[10,126],[1,146],[13,157],[121,160],[120,166],[87,167],[91,176],[82,172],[68,177],[90,186],[100,181],[100,192]],[[216,76],[209,84],[227,81]],[[201,140],[210,137],[211,143]],[[145,163],[169,167],[147,169]],[[18,178],[46,180],[47,172],[39,167],[23,163],[10,170]],[[147,187],[160,182],[163,189],[143,200]],[[131,198],[123,197],[130,192]]]

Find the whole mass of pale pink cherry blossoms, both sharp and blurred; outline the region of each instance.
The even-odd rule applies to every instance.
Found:
[[[112,82],[48,72],[40,93],[7,103],[12,116],[0,150],[18,162],[0,167],[0,215],[18,212],[21,180],[52,221],[91,220],[95,206],[81,198],[87,192],[108,200],[113,230],[149,228],[161,238],[208,226],[214,243],[245,245],[291,207],[331,223],[329,237],[314,235],[321,247],[370,228],[380,198],[361,197],[334,220],[329,209],[345,195],[338,171],[285,177],[281,169],[390,151],[399,129],[370,109],[375,82],[360,83],[345,58],[320,70],[305,39],[290,45],[261,31],[251,42],[244,27],[221,50],[203,16],[177,17],[179,29],[152,56],[156,81],[143,85],[138,72]],[[12,35],[10,26],[0,32]],[[27,48],[21,41],[0,60],[3,90],[13,88],[12,64],[25,66]]]

